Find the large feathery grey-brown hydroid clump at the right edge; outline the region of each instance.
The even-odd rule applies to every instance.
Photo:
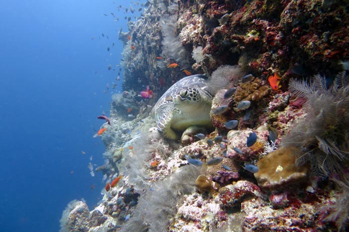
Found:
[[[283,139],[283,147],[299,147],[297,164],[310,162],[323,177],[340,176],[349,161],[349,77],[340,73],[332,86],[315,76],[310,84],[291,80],[291,93],[307,98],[305,118]],[[340,178],[340,177],[338,177]]]

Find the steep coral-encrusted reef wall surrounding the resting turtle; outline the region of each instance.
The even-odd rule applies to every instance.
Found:
[[[147,1],[142,17],[119,33],[124,92],[113,96],[101,135],[103,181],[123,177],[101,191],[91,212],[82,201],[69,204],[61,231],[348,231],[349,80],[340,73],[330,81],[349,60],[347,5]],[[209,77],[214,128],[189,128],[181,144],[161,136],[149,115],[188,73]],[[272,89],[275,74],[281,87]],[[147,86],[154,95],[143,98]],[[236,91],[225,97],[230,87]],[[234,109],[243,100],[249,108]],[[238,124],[229,129],[231,120]],[[253,165],[256,173],[246,168]]]

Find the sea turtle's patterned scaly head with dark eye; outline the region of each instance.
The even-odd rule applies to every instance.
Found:
[[[182,87],[171,94],[174,105],[197,103],[201,100],[199,89]]]

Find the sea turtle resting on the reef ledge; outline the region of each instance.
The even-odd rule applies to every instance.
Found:
[[[208,83],[204,75],[184,77],[161,96],[152,110],[160,134],[178,140],[177,132],[189,127],[213,128],[209,112],[215,91]]]

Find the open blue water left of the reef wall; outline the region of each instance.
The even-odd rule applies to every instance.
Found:
[[[121,90],[122,80],[104,93],[117,82],[107,67],[122,58],[124,12],[113,1],[11,0],[0,20],[0,232],[57,232],[69,201],[93,209],[101,197],[88,164],[103,164],[93,129]]]

